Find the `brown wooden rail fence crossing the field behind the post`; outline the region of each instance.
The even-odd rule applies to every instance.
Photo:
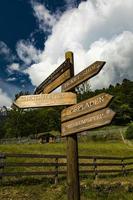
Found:
[[[57,183],[59,175],[66,176],[66,165],[65,155],[1,153],[0,178],[52,175]],[[133,157],[79,156],[79,168],[81,175],[94,174],[94,177],[105,173],[126,175],[133,172]]]

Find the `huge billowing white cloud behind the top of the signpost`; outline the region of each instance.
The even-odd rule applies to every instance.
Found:
[[[75,54],[76,73],[97,59],[107,61],[99,79],[92,80],[93,87],[107,86],[122,78],[133,79],[132,10],[132,0],[88,0],[63,13],[52,24],[52,34],[39,54],[40,63],[26,70],[32,83],[42,82],[64,61],[68,50]]]

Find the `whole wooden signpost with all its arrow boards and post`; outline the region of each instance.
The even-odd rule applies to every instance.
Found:
[[[80,200],[77,133],[109,124],[115,112],[107,107],[113,97],[106,93],[76,104],[75,87],[98,74],[105,62],[96,61],[74,76],[73,53],[66,52],[65,59],[36,88],[34,95],[20,96],[13,104],[19,108],[73,105],[65,108],[61,113],[61,135],[67,137],[68,200]],[[64,93],[48,94],[60,85]]]

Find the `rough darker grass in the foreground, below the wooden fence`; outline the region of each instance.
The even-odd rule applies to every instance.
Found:
[[[81,180],[81,200],[132,200],[133,176],[115,177],[111,180],[92,180],[87,177]],[[34,179],[23,179],[21,182],[5,184],[0,187],[2,200],[67,200],[66,181],[54,185],[45,179],[40,182]]]

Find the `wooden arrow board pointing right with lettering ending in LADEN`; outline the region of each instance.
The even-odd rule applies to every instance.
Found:
[[[64,122],[81,115],[105,108],[110,103],[112,98],[113,96],[109,94],[101,93],[95,97],[70,106],[62,111],[61,121]]]

